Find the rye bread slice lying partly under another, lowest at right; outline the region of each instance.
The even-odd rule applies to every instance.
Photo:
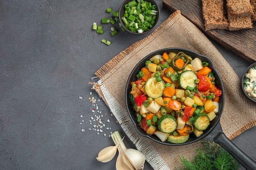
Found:
[[[251,29],[252,20],[251,17],[236,17],[229,19],[229,30],[236,31],[240,29]]]

